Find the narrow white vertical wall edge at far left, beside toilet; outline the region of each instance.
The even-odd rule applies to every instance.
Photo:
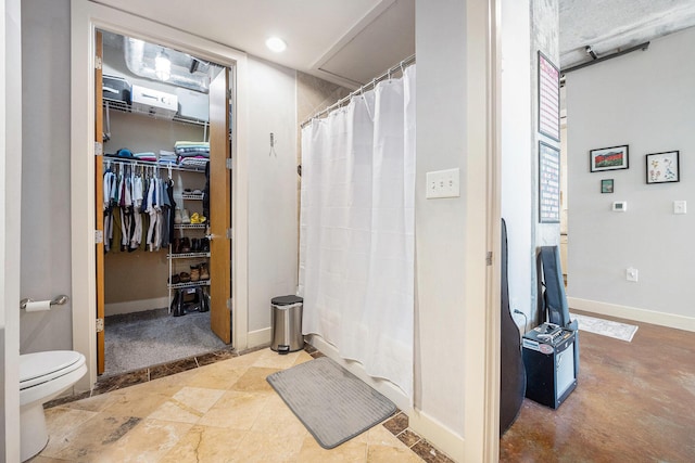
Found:
[[[22,195],[22,15],[0,5],[0,461],[20,461],[20,214]]]

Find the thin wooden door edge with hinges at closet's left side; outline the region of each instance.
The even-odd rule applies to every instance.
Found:
[[[104,372],[104,192],[103,192],[103,100],[102,100],[102,55],[103,37],[98,30],[94,36],[94,230],[97,230],[97,374]],[[101,239],[99,239],[101,236]]]

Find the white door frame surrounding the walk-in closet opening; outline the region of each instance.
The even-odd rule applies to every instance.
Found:
[[[161,43],[233,68],[232,139],[232,343],[248,345],[248,149],[247,54],[119,10],[71,1],[71,258],[73,349],[87,358],[88,374],[75,385],[89,390],[97,382],[97,304],[94,241],[94,31],[104,29]],[[89,179],[89,181],[85,181]]]

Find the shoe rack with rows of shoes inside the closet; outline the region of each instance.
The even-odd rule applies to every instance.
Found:
[[[190,288],[194,293],[201,286],[210,286],[210,230],[202,214],[203,193],[185,189],[180,198],[182,208],[177,207],[174,223],[176,237],[166,255],[169,312],[177,292]]]

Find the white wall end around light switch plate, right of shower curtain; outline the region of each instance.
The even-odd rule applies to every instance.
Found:
[[[488,208],[485,202],[488,7],[485,1],[416,2],[416,358],[410,426],[456,461],[471,462],[484,460],[490,430],[485,411],[494,409],[485,393],[485,366],[496,365],[494,356],[488,357],[484,317],[491,216],[498,230],[498,209],[494,204]],[[460,169],[460,197],[426,200],[426,173],[448,168]]]

